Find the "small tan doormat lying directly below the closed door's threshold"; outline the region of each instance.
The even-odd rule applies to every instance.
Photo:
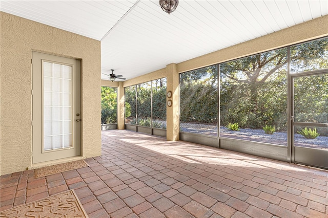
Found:
[[[65,172],[72,169],[78,169],[89,166],[84,160],[72,161],[68,163],[57,164],[53,166],[46,166],[43,168],[35,169],[35,178],[45,177],[56,174],[58,172]]]

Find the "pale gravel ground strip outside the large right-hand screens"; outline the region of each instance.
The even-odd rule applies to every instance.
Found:
[[[187,133],[200,133],[206,135],[217,136],[216,125],[196,124],[196,123],[181,123],[181,132]],[[220,134],[224,137],[233,138],[249,138],[252,141],[261,142],[275,142],[280,145],[287,145],[287,133],[275,132],[272,135],[265,134],[263,129],[248,129],[241,128],[240,131],[232,131],[227,127],[221,126]],[[297,146],[310,146],[315,148],[328,148],[328,137],[318,136],[316,139],[306,139],[300,134],[295,134],[295,145]]]

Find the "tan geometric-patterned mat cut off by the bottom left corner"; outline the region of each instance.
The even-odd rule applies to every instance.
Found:
[[[2,211],[0,217],[88,217],[74,190]]]

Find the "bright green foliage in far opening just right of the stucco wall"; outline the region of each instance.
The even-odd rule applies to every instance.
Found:
[[[101,86],[101,123],[117,123],[117,88]]]

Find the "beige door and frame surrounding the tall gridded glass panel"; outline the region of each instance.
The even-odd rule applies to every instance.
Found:
[[[54,60],[55,59],[55,60]],[[72,122],[72,147],[61,148],[60,151],[68,151],[67,154],[62,154],[59,158],[50,158],[55,156],[56,150],[44,151],[44,103],[43,103],[43,83],[44,83],[44,73],[43,73],[43,62],[49,61],[57,64],[64,64],[67,66],[74,66],[72,68],[72,108],[71,108],[71,122]],[[34,72],[35,71],[35,72]],[[75,73],[74,73],[75,72]],[[40,75],[39,75],[40,74]],[[37,78],[35,78],[37,77]],[[74,125],[76,116],[75,113],[79,113],[78,119],[81,120],[81,86],[80,86],[80,60],[56,56],[52,54],[42,53],[42,52],[32,52],[32,164],[39,164],[48,161],[55,161],[64,158],[73,158],[81,155],[81,121],[77,125],[77,133],[74,133]],[[41,84],[39,84],[39,82]],[[38,85],[39,88],[36,89]],[[78,90],[74,90],[78,88]],[[34,92],[33,92],[34,91]],[[77,93],[77,98],[76,98]],[[34,100],[35,98],[35,100]],[[38,100],[37,100],[38,99]],[[77,99],[77,101],[76,101]],[[37,102],[39,101],[39,102]],[[37,102],[37,103],[36,103]],[[36,104],[35,104],[36,103]],[[41,103],[41,104],[39,104]],[[73,111],[74,108],[78,109],[78,112]],[[41,116],[40,118],[38,116]],[[36,118],[40,119],[41,123],[37,124]],[[37,126],[39,125],[39,126]],[[77,134],[77,135],[76,135]],[[36,142],[40,143],[40,147],[37,147]],[[41,151],[39,150],[41,149]],[[70,151],[71,149],[71,151]],[[74,151],[73,151],[74,150]],[[57,151],[57,154],[58,152]],[[61,153],[63,153],[61,152]],[[40,157],[42,155],[43,157]],[[38,160],[37,160],[38,159]]]

